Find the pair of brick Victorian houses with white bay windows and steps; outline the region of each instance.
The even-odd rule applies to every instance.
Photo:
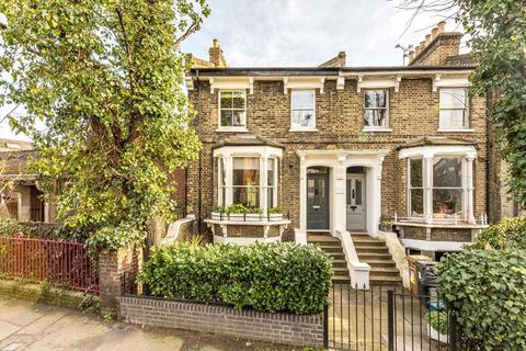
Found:
[[[203,143],[186,179],[195,230],[318,242],[342,280],[396,282],[385,230],[439,257],[512,216],[461,36],[438,23],[402,67],[346,67],[345,53],[318,67],[228,67],[214,39],[186,78]]]

